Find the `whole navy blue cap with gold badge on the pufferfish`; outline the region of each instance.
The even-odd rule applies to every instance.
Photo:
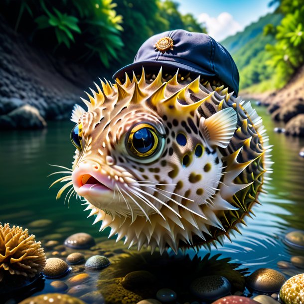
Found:
[[[166,45],[170,42],[171,45]],[[229,52],[209,35],[183,29],[150,37],[139,48],[134,63],[118,70],[113,79],[142,66],[159,68],[161,65],[217,78],[234,91],[234,95],[239,92],[239,72]]]

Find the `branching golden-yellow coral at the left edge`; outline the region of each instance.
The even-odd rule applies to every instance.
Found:
[[[33,278],[41,273],[45,260],[40,241],[27,229],[0,224],[0,282],[5,274]]]

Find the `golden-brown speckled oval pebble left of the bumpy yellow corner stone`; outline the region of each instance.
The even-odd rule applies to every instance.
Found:
[[[285,276],[277,270],[260,268],[247,277],[246,284],[257,292],[275,293],[281,289],[285,281]]]

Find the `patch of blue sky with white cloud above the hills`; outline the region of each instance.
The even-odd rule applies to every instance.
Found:
[[[217,41],[222,41],[261,16],[272,12],[270,0],[175,0],[179,11],[192,13],[198,21],[204,22],[208,34]]]

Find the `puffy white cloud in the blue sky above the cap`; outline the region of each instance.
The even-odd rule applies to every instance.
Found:
[[[198,16],[199,22],[204,22],[208,34],[217,41],[221,41],[236,32],[243,30],[243,27],[228,12],[222,12],[217,17],[211,17],[207,13]]]

